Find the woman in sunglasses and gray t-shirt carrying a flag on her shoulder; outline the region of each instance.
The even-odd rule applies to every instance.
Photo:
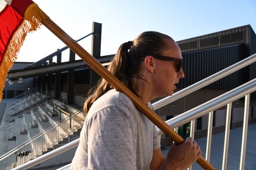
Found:
[[[122,44],[109,71],[144,104],[172,95],[180,78],[181,50],[165,34],[147,31]],[[200,156],[191,138],[173,144],[165,159],[156,128],[131,100],[105,79],[84,104],[87,118],[71,169],[185,169]]]

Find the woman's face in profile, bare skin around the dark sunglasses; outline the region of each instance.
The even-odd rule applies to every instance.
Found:
[[[174,41],[168,40],[167,43],[169,47],[161,55],[182,59],[179,46]],[[179,79],[184,78],[185,76],[182,68],[177,72],[176,68],[178,63],[175,61],[154,59],[154,62],[155,66],[152,79],[154,95],[156,97],[172,95],[173,91],[176,89],[176,84],[178,84]]]

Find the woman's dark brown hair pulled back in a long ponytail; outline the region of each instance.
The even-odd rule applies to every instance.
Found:
[[[164,52],[167,49],[167,40],[174,41],[171,37],[156,31],[140,34],[134,41],[123,43],[119,47],[108,70],[136,94],[132,88],[131,78],[140,70],[141,59],[150,54]],[[84,103],[84,111],[88,113],[93,102],[112,88],[105,79],[101,79],[97,86],[90,91],[90,96]]]

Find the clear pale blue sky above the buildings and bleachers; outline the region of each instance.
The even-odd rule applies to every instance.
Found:
[[[256,0],[34,2],[75,40],[91,33],[93,21],[102,23],[102,56],[115,54],[122,43],[149,30],[168,34],[176,41],[247,24],[256,32]],[[80,44],[90,53],[91,37]],[[36,62],[64,46],[42,26],[27,36],[17,62]],[[62,61],[67,61],[68,52],[62,56]]]

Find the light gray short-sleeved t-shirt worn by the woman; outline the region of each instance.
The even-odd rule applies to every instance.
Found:
[[[91,106],[71,169],[149,169],[159,148],[154,124],[127,95],[111,89]]]

